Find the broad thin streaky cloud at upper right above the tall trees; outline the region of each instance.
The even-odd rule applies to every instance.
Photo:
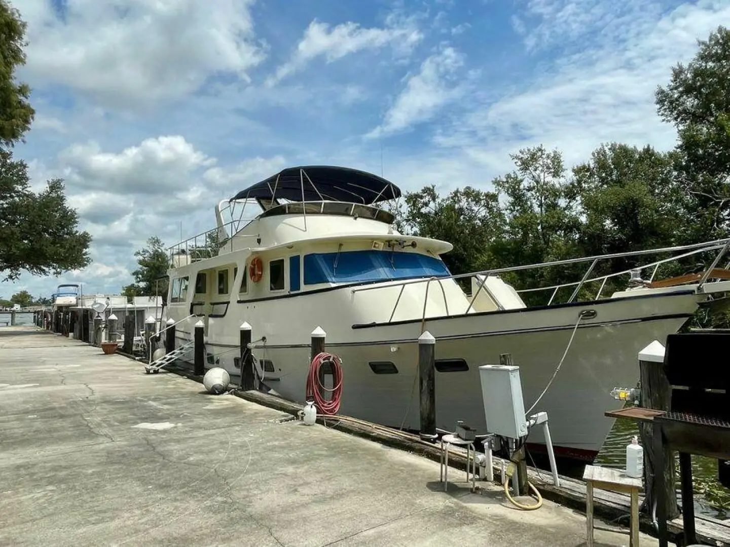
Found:
[[[572,9],[564,3],[531,2],[537,5],[558,19]],[[611,5],[600,4],[601,9]],[[595,19],[582,15],[583,27],[565,23],[570,26],[558,25],[558,36],[550,35],[558,39],[564,31],[575,36],[575,42],[561,42],[567,50],[575,45],[573,53],[543,67],[522,90],[496,99],[493,90],[475,93],[471,111],[442,125],[434,142],[495,174],[512,168],[510,152],[539,143],[564,151],[569,165],[587,160],[606,141],[671,148],[676,135],[656,115],[656,86],[669,79],[672,66],[696,53],[696,39],[730,19],[730,4],[700,1],[661,18],[648,9],[631,21],[612,19],[608,27],[601,9],[588,9]],[[588,49],[581,47],[584,34],[593,36]]]

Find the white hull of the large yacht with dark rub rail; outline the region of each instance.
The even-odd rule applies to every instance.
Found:
[[[349,290],[342,290],[349,293]],[[337,302],[328,298],[329,302]],[[693,290],[581,302],[549,308],[518,309],[457,317],[431,317],[352,325],[347,309],[323,307],[321,298],[271,300],[266,306],[231,306],[225,318],[207,327],[209,362],[239,374],[238,325],[247,321],[253,338],[266,335],[254,354],[269,361],[258,368],[263,389],[303,402],[310,368],[309,333],[327,332],[326,348],[342,358],[340,413],[391,427],[418,430],[418,336],[429,330],[437,338],[437,360],[464,360],[466,371],[437,371],[437,427],[453,430],[457,420],[485,432],[479,366],[499,362],[509,353],[520,367],[527,411],[548,386],[561,357],[560,370],[533,412],[547,411],[556,451],[592,459],[613,424],[604,412],[621,405],[613,387],[633,387],[639,379],[638,352],[654,340],[664,342],[696,311],[701,298]],[[307,305],[309,301],[310,305]],[[579,319],[580,312],[588,310]],[[190,332],[179,334],[181,344]],[[370,362],[392,362],[397,373],[374,373]],[[211,364],[207,366],[212,366]],[[530,443],[544,443],[542,430]]]

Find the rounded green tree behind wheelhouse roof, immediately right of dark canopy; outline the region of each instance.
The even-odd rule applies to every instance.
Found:
[[[485,252],[502,231],[496,194],[466,186],[445,198],[434,186],[405,195],[397,223],[404,233],[441,239],[453,244],[442,256],[452,274],[485,268]]]

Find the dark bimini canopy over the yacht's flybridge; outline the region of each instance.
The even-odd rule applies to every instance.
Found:
[[[231,201],[345,201],[370,205],[399,198],[401,190],[380,176],[333,166],[288,167],[237,193]]]

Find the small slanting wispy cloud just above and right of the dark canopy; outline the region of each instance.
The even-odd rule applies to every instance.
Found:
[[[463,55],[453,47],[446,47],[423,61],[418,74],[408,78],[405,89],[385,112],[383,123],[366,137],[397,133],[434,117],[442,106],[464,93],[456,78],[456,71],[463,64]]]

